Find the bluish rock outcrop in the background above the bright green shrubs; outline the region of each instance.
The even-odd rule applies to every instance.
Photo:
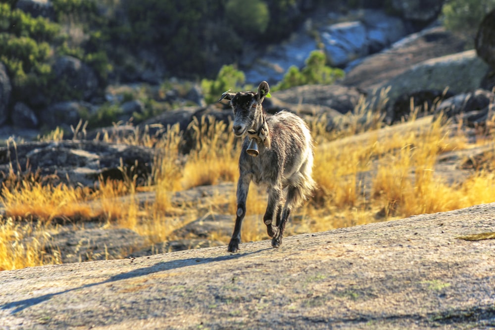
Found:
[[[408,32],[404,22],[380,11],[366,9],[356,16],[359,19],[317,28],[318,39],[333,66],[345,67],[357,58],[389,46]],[[266,80],[275,84],[282,80],[290,66],[302,68],[311,51],[318,48],[310,33],[312,29],[311,24],[306,24],[305,29],[257,59],[247,54],[241,60],[246,81],[258,84]]]

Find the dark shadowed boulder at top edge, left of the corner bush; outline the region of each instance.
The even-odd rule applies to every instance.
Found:
[[[422,28],[438,18],[445,0],[392,0],[392,9]]]

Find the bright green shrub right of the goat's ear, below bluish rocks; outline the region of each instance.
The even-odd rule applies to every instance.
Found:
[[[338,68],[326,66],[326,56],[319,50],[314,50],[306,59],[306,66],[299,71],[296,66],[291,66],[273,90],[285,90],[295,86],[311,84],[333,84],[339,78],[344,77],[344,71]]]

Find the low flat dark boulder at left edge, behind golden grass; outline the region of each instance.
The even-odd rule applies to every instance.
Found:
[[[142,185],[151,173],[154,155],[151,148],[99,141],[25,142],[0,147],[0,182],[7,179],[10,168],[19,168],[22,172],[39,170],[53,184],[94,187],[100,177],[123,180],[123,165]]]

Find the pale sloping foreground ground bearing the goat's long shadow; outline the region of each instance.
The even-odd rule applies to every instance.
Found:
[[[493,329],[495,240],[482,238],[494,232],[492,203],[287,237],[280,249],[6,271],[0,329]]]

